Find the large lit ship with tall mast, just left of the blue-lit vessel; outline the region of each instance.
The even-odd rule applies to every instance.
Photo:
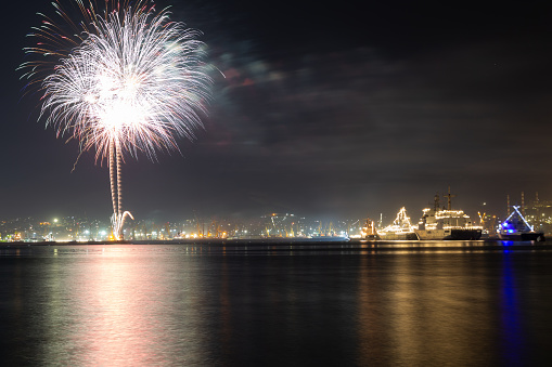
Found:
[[[434,207],[423,209],[414,233],[421,240],[476,240],[482,238],[482,226],[472,223],[463,210],[452,210],[450,187],[448,207],[439,208],[439,195],[435,195]]]

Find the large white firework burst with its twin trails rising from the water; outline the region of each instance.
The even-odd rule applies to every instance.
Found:
[[[103,14],[81,0],[72,2],[81,14],[74,23],[61,2],[53,2],[62,22],[43,16],[29,36],[38,39],[26,53],[40,60],[22,64],[27,90],[38,88],[40,117],[57,136],[79,142],[81,152],[95,150],[107,161],[113,201],[114,235],[121,238],[121,163],[125,156],[177,149],[177,139],[194,139],[203,127],[211,79],[202,63],[198,31],[170,22],[151,2],[106,1]]]

